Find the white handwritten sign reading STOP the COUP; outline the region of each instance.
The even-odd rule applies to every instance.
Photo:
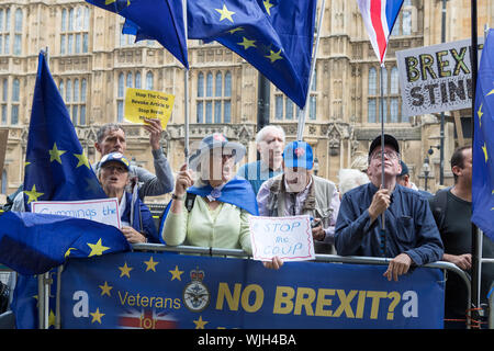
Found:
[[[293,217],[249,217],[250,240],[255,260],[313,260],[314,242],[307,215]]]

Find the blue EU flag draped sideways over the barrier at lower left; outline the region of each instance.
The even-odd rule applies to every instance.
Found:
[[[87,258],[131,249],[113,226],[89,219],[7,212],[0,216],[0,258],[14,271],[41,274],[68,256]]]

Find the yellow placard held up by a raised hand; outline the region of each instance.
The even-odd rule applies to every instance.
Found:
[[[173,109],[175,95],[160,91],[127,88],[125,94],[125,120],[144,123],[146,118],[159,118],[161,127],[167,127]]]

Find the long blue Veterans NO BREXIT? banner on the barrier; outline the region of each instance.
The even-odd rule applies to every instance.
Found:
[[[417,268],[127,252],[69,259],[63,328],[442,328],[444,274]]]

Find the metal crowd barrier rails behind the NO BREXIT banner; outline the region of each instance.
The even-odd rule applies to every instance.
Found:
[[[166,246],[161,244],[134,244],[132,245],[134,251],[151,251],[151,252],[178,252],[186,254],[201,254],[201,256],[216,256],[216,257],[237,257],[243,259],[251,259],[244,250],[236,249],[220,249],[220,248],[203,248],[193,246]],[[316,254],[315,262],[332,262],[332,263],[349,263],[349,264],[381,264],[388,265],[392,259],[391,258],[375,258],[375,257],[355,257],[355,256],[337,256],[337,254]],[[446,272],[453,272],[462,279],[465,284],[468,292],[468,299],[465,301],[465,310],[469,312],[471,308],[471,286],[470,276],[456,264],[450,262],[437,261],[434,263],[428,263],[423,265],[425,268],[441,269]],[[55,328],[60,329],[60,274],[63,271],[63,265],[58,268],[58,279],[57,279],[57,292],[56,292],[56,320]],[[40,298],[38,298],[38,312],[40,312],[40,329],[47,329],[48,315],[49,315],[49,274],[40,275]],[[467,328],[470,329],[470,312],[467,318]]]

